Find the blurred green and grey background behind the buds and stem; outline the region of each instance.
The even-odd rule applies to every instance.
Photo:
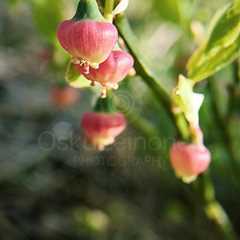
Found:
[[[201,23],[197,29],[204,31],[226,2],[130,0],[136,44],[169,89],[196,47],[191,27]],[[80,129],[96,91],[78,89],[79,100],[69,107],[53,102],[68,60],[56,27],[74,15],[76,3],[0,1],[0,239],[221,239],[194,186],[182,184],[171,170],[174,131],[139,77],[126,79],[116,93],[131,117],[116,144],[101,153],[85,144]],[[231,158],[240,161],[239,105],[222,121],[230,139],[219,120],[229,110],[232,79],[230,66],[198,91],[206,95],[201,125],[213,154],[217,199],[240,234],[240,183],[230,164]],[[139,123],[134,112],[146,122]]]

